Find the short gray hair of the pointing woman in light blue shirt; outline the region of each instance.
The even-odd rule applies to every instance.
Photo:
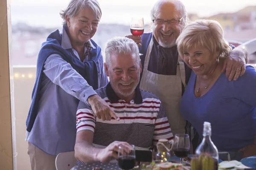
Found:
[[[64,20],[63,25],[67,25],[65,20],[66,15],[69,15],[71,18],[75,17],[83,8],[89,8],[92,10],[93,14],[95,14],[97,19],[100,20],[102,11],[97,0],[70,0],[67,8],[60,12],[61,18]]]

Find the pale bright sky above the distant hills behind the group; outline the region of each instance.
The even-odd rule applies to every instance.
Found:
[[[150,22],[150,10],[156,0],[98,0],[102,8],[102,23],[129,25],[131,17],[143,17]],[[256,6],[256,0],[182,0],[188,13],[209,17],[218,13],[236,12],[246,6]],[[69,0],[11,0],[12,23],[32,26],[61,25],[59,11]]]

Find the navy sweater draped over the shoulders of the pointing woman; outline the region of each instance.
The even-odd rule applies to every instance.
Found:
[[[38,101],[40,96],[38,92],[41,88],[41,78],[43,75],[44,62],[47,57],[52,54],[59,54],[65,61],[70,63],[70,65],[87,80],[88,84],[93,87],[93,89],[98,88],[98,70],[96,62],[102,57],[101,48],[94,42],[90,40],[96,48],[93,48],[90,52],[91,59],[87,62],[81,62],[73,52],[70,52],[61,47],[62,35],[58,30],[52,32],[47,37],[47,41],[42,44],[41,50],[38,54],[37,59],[37,71],[35,78],[35,85],[32,91],[32,103],[29,109],[29,113],[26,120],[27,131],[30,132],[35,118],[38,114]]]

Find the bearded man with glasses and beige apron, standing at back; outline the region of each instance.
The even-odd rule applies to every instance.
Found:
[[[180,99],[189,81],[191,69],[177,52],[176,40],[187,22],[186,9],[179,0],[159,0],[151,10],[153,32],[141,37],[128,35],[140,47],[140,88],[156,94],[166,109],[173,134],[189,133],[189,123],[180,114]],[[245,71],[246,54],[233,50],[223,68],[228,79],[236,80]],[[235,76],[235,77],[234,77]]]

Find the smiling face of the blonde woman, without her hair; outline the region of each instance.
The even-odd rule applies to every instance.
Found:
[[[183,51],[183,60],[197,75],[209,75],[217,66],[217,56],[207,48],[192,47]]]

